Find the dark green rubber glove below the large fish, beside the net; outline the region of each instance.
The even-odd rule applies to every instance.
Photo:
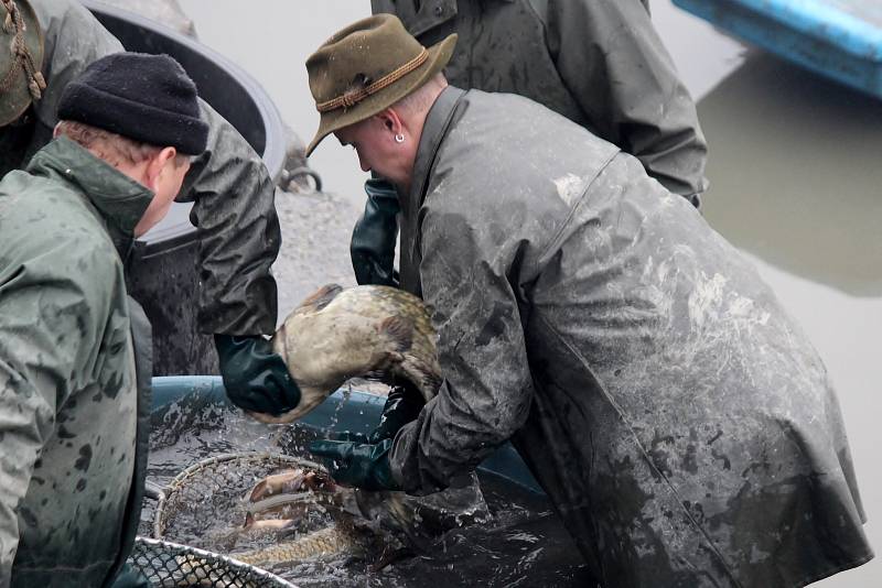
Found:
[[[334,481],[363,490],[400,490],[392,479],[389,450],[392,440],[359,444],[337,440],[314,440],[310,451],[327,467]]]

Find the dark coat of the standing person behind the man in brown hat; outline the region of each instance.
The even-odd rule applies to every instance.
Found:
[[[519,94],[636,155],[671,192],[704,192],[696,106],[637,0],[372,0],[424,45],[456,33],[461,88]]]

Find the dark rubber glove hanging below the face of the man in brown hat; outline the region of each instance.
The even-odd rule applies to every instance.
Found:
[[[352,230],[349,255],[359,284],[397,286],[395,246],[398,241],[398,193],[386,179],[365,182],[365,213]]]

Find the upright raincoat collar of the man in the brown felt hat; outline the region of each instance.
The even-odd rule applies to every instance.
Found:
[[[438,96],[438,99],[429,110],[429,115],[426,117],[426,123],[422,126],[422,134],[420,135],[420,144],[417,148],[417,157],[413,162],[410,194],[401,206],[406,216],[422,206],[438,148],[441,146],[441,141],[447,134],[450,121],[453,119],[456,105],[463,96],[465,96],[465,90],[448,86]]]

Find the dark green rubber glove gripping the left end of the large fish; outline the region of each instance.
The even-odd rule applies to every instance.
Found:
[[[230,402],[245,411],[279,416],[300,403],[300,388],[263,337],[215,335],[220,375]]]

